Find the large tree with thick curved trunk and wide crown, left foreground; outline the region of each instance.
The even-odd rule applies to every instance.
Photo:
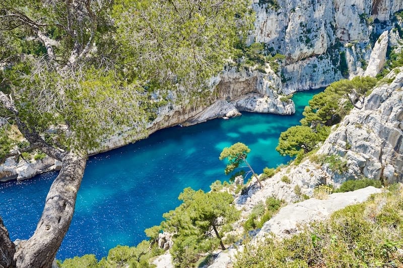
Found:
[[[35,233],[16,251],[0,222],[3,266],[51,266],[73,217],[88,151],[116,133],[129,141],[145,137],[146,124],[167,102],[152,98],[156,90],[191,92],[189,84],[203,90],[247,28],[247,4],[0,3],[0,122],[17,125],[30,143],[6,157],[39,149],[62,162]]]

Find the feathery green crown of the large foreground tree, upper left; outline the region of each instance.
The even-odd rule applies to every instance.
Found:
[[[82,152],[116,133],[130,141],[146,136],[147,123],[171,101],[169,91],[183,104],[210,96],[207,79],[252,27],[249,3],[241,0],[86,3],[13,0],[0,18],[0,61],[7,66],[0,90],[13,93],[28,127],[65,126],[55,143]]]

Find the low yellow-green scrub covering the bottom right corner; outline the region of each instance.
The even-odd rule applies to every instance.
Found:
[[[373,195],[279,241],[248,244],[234,267],[400,267],[403,188]]]

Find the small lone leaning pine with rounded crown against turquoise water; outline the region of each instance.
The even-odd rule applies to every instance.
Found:
[[[223,149],[223,151],[221,152],[219,159],[228,160],[227,166],[224,171],[226,175],[228,175],[229,173],[234,171],[235,168],[239,167],[239,165],[241,163],[245,163],[249,167],[253,176],[256,178],[257,182],[259,183],[260,188],[262,188],[263,185],[261,184],[259,177],[255,173],[255,171],[253,171],[253,169],[249,165],[248,161],[246,161],[246,157],[248,156],[249,152],[250,152],[250,149],[248,146],[246,146],[242,142],[237,142],[237,143],[231,145],[231,147],[229,147],[229,148],[225,147]]]

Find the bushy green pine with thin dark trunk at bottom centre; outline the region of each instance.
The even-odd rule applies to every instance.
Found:
[[[170,250],[174,264],[189,267],[206,252],[218,246],[225,249],[222,230],[239,218],[239,212],[232,204],[233,196],[226,192],[205,193],[186,188],[179,195],[179,200],[183,203],[165,213],[165,221],[153,227],[154,232],[146,233],[153,237],[156,230],[174,234]]]

